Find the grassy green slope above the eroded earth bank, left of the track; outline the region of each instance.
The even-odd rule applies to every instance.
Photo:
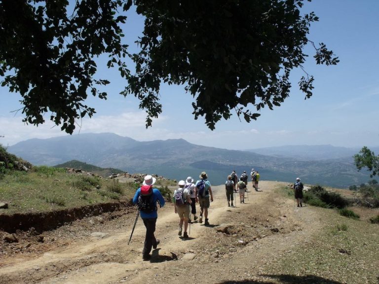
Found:
[[[9,205],[2,213],[43,212],[119,200],[129,202],[140,186],[137,182],[121,183],[117,179],[88,173],[67,173],[60,167],[32,167],[9,154],[2,146],[0,158],[0,201]],[[25,164],[30,167],[28,172],[17,170],[17,165]],[[106,171],[92,165],[86,166],[88,169]],[[170,180],[156,182],[168,201],[172,193],[167,186],[173,184]]]

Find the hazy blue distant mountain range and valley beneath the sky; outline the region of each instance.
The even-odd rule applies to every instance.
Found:
[[[370,179],[357,172],[352,155],[359,149],[321,146],[283,146],[248,151],[227,150],[191,144],[183,139],[139,142],[112,133],[79,134],[50,139],[31,139],[7,149],[34,165],[54,166],[78,160],[102,168],[129,173],[150,173],[172,179],[195,180],[206,171],[213,184],[258,170],[265,180],[348,187]],[[292,153],[292,154],[291,154]],[[322,159],[321,157],[333,157]]]

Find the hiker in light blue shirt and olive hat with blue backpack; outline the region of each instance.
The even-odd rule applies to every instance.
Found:
[[[205,217],[205,225],[209,225],[208,221],[208,208],[210,206],[209,197],[211,197],[211,202],[213,202],[213,194],[211,189],[211,183],[208,180],[207,173],[202,172],[199,176],[199,180],[196,181],[195,186],[197,190],[197,198],[199,199],[200,205],[200,217],[199,223],[203,222],[203,212]]]

